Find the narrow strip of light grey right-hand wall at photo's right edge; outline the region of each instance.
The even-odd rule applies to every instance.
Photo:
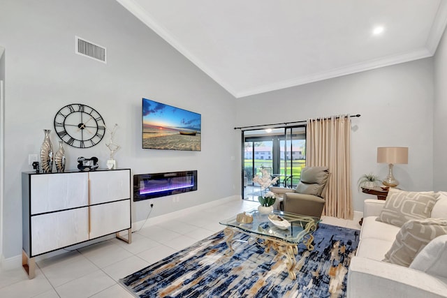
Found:
[[[433,180],[436,191],[447,191],[447,33],[434,56]]]

